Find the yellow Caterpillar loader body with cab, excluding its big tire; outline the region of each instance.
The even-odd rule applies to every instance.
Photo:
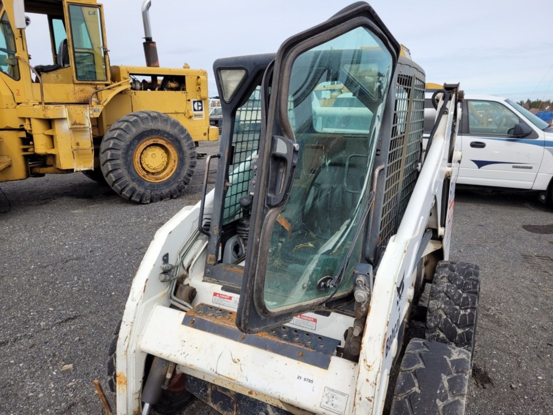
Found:
[[[139,66],[109,66],[103,8],[96,0],[60,0],[69,49],[69,66],[39,74],[29,60],[25,30],[15,25],[16,0],[3,0],[0,18],[4,31],[13,32],[14,56],[4,59],[4,66],[17,65],[18,78],[0,72],[0,182],[40,176],[45,173],[70,173],[98,167],[97,149],[109,126],[119,118],[142,110],[165,113],[178,120],[197,143],[217,140],[218,130],[209,126],[207,72]],[[50,14],[60,6],[53,2],[30,0],[25,10],[48,14],[54,60],[58,58]],[[69,7],[90,6],[100,14],[101,45],[90,52],[105,59],[105,80],[77,79],[74,39],[71,35]],[[30,10],[27,10],[30,6]],[[89,14],[94,13],[90,12]],[[83,13],[84,14],[84,13]],[[9,20],[9,27],[5,19]],[[87,19],[86,17],[84,18]],[[88,22],[86,23],[88,24]],[[11,35],[11,33],[10,33]],[[11,61],[10,61],[11,60]],[[96,69],[104,70],[98,66]],[[1,64],[0,64],[1,65]],[[32,79],[32,72],[35,80]],[[13,74],[12,74],[13,75]],[[136,78],[152,77],[155,90],[132,87]],[[178,90],[160,90],[157,78],[178,77],[185,82]],[[135,80],[135,84],[136,84]],[[152,84],[153,85],[153,84]],[[203,102],[203,114],[192,109],[192,101]],[[96,152],[95,152],[96,148]]]

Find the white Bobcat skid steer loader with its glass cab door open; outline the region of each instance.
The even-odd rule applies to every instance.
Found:
[[[423,157],[425,75],[405,55],[358,2],[276,54],[215,61],[220,153],[134,278],[118,414],[194,396],[232,415],[465,413],[479,268],[447,261],[462,91],[434,95]]]

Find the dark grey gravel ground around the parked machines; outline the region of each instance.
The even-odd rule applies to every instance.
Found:
[[[151,205],[78,173],[2,184],[0,415],[101,414],[95,378],[114,405],[112,331],[155,230],[199,199],[204,160],[186,196]],[[451,258],[482,268],[471,415],[551,413],[552,222],[534,194],[458,189]]]

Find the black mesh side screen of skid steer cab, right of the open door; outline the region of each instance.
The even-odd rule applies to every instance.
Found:
[[[384,202],[380,219],[379,245],[387,245],[399,223],[418,177],[424,123],[424,75],[400,74],[396,82],[395,108]]]

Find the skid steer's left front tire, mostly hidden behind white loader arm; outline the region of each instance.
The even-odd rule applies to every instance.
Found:
[[[121,330],[121,321],[113,333],[111,344],[109,344],[109,357],[107,361],[108,385],[112,392],[117,391],[117,340]],[[177,375],[182,376],[182,375]],[[173,380],[173,379],[172,379]],[[184,385],[184,384],[183,384]],[[171,385],[170,385],[171,386]],[[154,411],[159,415],[175,415],[181,413],[195,400],[195,396],[187,391],[184,386],[174,390],[164,389],[161,392],[159,402],[154,405]]]

